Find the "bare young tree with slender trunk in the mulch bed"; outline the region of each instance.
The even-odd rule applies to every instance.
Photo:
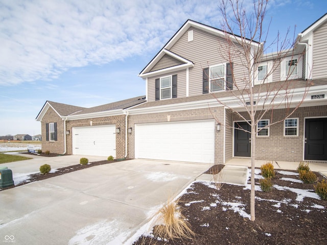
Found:
[[[271,75],[280,67],[285,57],[297,55],[298,59],[300,59],[303,51],[301,51],[301,47],[296,46],[294,38],[292,41],[287,38],[290,34],[289,29],[285,38],[281,39],[278,33],[272,43],[269,45],[266,43],[269,32],[269,25],[266,28],[264,27],[267,4],[268,0],[253,0],[252,11],[248,11],[243,1],[220,1],[219,8],[223,19],[222,31],[227,42],[218,47],[218,52],[221,57],[226,59],[226,62],[230,65],[227,70],[230,70],[227,72],[226,81],[225,76],[221,76],[215,70],[211,70],[211,76],[208,77],[211,87],[221,86],[222,90],[226,88],[227,96],[221,96],[211,91],[217,102],[246,121],[250,128],[248,130],[239,127],[237,130],[243,130],[251,135],[251,220],[255,220],[254,169],[256,135],[290,117],[301,105],[310,87],[310,81],[289,79],[297,64],[289,64],[289,70],[286,72],[283,81],[271,81]],[[271,50],[271,45],[276,46],[277,51],[266,55],[267,50]],[[265,60],[269,60],[271,65],[266,66],[267,70],[261,73],[258,64]],[[261,76],[260,81],[257,79],[258,76]],[[228,89],[228,83],[232,84],[232,89]],[[298,86],[305,87],[305,93],[295,94],[294,89]],[[226,97],[237,99],[238,108],[224,100]],[[243,113],[239,112],[238,109],[240,108],[243,108]],[[283,118],[274,118],[275,109],[285,110]],[[269,116],[270,121],[258,128],[257,125],[264,116]],[[220,123],[223,125],[223,122]],[[224,126],[235,130],[233,125]]]

